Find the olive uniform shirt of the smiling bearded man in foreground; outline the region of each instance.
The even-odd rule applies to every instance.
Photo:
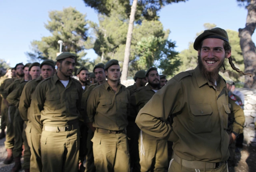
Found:
[[[147,134],[174,142],[174,153],[182,159],[221,162],[229,157],[228,114],[226,83],[219,76],[215,89],[197,66],[158,90],[136,124]]]

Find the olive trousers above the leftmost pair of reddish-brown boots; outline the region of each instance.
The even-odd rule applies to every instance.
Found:
[[[16,112],[16,107],[15,106],[9,106],[8,111],[7,111],[7,116],[6,116],[6,124],[7,124],[7,131],[6,131],[6,136],[5,136],[5,148],[6,149],[12,149],[14,148],[14,126],[13,126],[13,121],[14,121],[14,114]]]

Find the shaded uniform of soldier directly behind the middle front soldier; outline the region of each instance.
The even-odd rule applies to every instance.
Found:
[[[88,97],[91,93],[91,91],[96,87],[96,86],[99,86],[100,84],[97,82],[96,84],[91,84],[87,90],[83,93],[83,96],[82,96],[82,108],[84,108],[84,113],[86,113],[86,106],[87,106],[87,100],[88,100]],[[87,115],[85,115],[87,116]],[[88,119],[86,120],[88,121]],[[87,136],[87,139],[86,139],[86,172],[95,172],[96,171],[96,168],[95,168],[95,165],[94,165],[94,156],[93,156],[93,149],[92,149],[92,138],[94,136],[94,132],[92,132],[92,130],[90,128],[88,128],[88,136]],[[80,142],[81,143],[81,142]]]

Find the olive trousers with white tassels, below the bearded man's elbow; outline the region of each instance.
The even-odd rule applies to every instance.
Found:
[[[167,140],[158,140],[140,131],[139,150],[141,172],[164,172],[168,168]]]

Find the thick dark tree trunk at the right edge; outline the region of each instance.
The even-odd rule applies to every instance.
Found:
[[[250,72],[252,77],[246,75],[244,87],[256,88],[256,47],[252,42],[252,34],[256,28],[256,0],[251,0],[246,7],[248,10],[246,26],[239,29],[240,46],[244,57],[244,72]]]

